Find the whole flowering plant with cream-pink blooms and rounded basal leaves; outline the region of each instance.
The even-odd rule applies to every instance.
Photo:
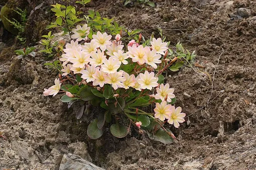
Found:
[[[60,58],[61,75],[44,95],[64,91],[61,100],[69,106],[81,101],[77,118],[88,105],[102,107],[105,112],[95,113],[87,128],[92,139],[99,138],[108,124],[114,136],[124,137],[133,124],[151,139],[171,143],[174,135],[166,126],[178,128],[186,114],[175,108],[174,89],[164,84],[162,73],[177,60],[167,58],[168,44],[161,38],[152,38],[150,46],[141,44],[140,34],[124,47],[120,34],[111,40],[111,35],[98,31],[88,39],[89,29],[79,25],[73,30],[75,41],[66,44]]]

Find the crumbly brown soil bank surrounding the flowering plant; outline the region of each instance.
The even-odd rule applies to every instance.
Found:
[[[139,134],[117,139],[107,131],[90,140],[91,115],[76,120],[61,94],[43,96],[57,77],[43,65],[46,58],[12,56],[0,60],[0,169],[57,169],[64,153],[106,169],[255,169],[256,2],[155,0],[156,8],[141,8],[92,1],[89,8],[121,25],[156,37],[161,27],[170,45],[181,41],[196,50],[193,67],[166,78],[186,122],[171,127],[177,138],[169,145]]]

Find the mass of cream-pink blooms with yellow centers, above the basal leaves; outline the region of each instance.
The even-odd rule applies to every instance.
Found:
[[[156,103],[155,114],[148,115],[152,114],[161,121],[167,119],[168,123],[178,128],[179,123],[185,121],[185,113],[181,112],[181,107],[175,108],[171,105],[172,99],[175,98],[174,89],[170,88],[168,83],[159,84],[158,77],[159,73],[168,66],[168,61],[165,59],[168,54],[167,43],[162,42],[161,38],[152,38],[151,45],[147,46],[140,44],[140,39],[139,42],[133,39],[127,44],[127,50],[125,50],[120,34],[111,41],[111,35],[98,31],[89,40],[87,38],[89,30],[90,27],[86,24],[82,27],[78,25],[72,30],[74,34],[71,37],[76,40],[66,44],[60,58],[63,78],[67,77],[71,81],[70,77],[74,78],[75,74],[78,74],[82,78],[78,85],[95,88],[101,95],[104,93],[105,85],[109,84],[113,88],[112,96],[115,99],[116,97],[125,99],[124,109],[126,106],[129,109],[130,105],[137,107]],[[81,40],[86,42],[78,43]],[[163,64],[162,67],[161,64]],[[75,82],[72,83],[75,84]],[[55,79],[55,85],[45,89],[44,95],[56,95],[61,89],[60,85],[60,80]],[[134,91],[138,91],[139,94]],[[79,92],[73,94],[72,91],[67,91],[66,95],[79,97]],[[137,100],[141,98],[147,100],[147,103],[138,104]],[[106,105],[108,105],[107,99],[104,98]],[[137,121],[137,118],[134,124],[139,128],[144,125],[143,122]]]

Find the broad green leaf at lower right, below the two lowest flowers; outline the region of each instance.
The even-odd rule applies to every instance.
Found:
[[[166,130],[171,133],[169,129]],[[160,141],[164,144],[173,143],[173,138],[162,127],[160,127],[154,135],[149,132],[148,135],[151,140]]]

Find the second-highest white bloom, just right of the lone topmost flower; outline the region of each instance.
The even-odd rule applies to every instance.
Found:
[[[97,47],[100,47],[102,51],[105,51],[106,46],[111,44],[111,41],[109,41],[111,39],[111,35],[107,35],[106,32],[102,34],[100,31],[98,31],[97,35],[92,35],[92,37],[95,39]]]

